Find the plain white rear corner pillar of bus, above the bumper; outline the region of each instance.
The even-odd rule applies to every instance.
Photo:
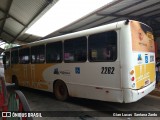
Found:
[[[121,26],[120,29],[120,66],[121,66],[121,80],[122,88],[128,89],[131,88],[131,76],[129,76],[130,71],[133,68],[132,60],[133,56],[131,55],[131,32],[129,25],[124,25],[119,23],[118,26]]]

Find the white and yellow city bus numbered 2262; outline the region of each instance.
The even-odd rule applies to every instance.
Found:
[[[123,20],[8,49],[5,79],[18,86],[69,96],[135,102],[155,89],[152,29]]]

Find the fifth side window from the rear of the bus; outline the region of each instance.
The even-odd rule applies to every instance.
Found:
[[[30,50],[29,48],[24,48],[19,50],[19,63],[28,64],[30,63]]]

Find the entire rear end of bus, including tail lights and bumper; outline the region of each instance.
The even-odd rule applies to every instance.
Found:
[[[155,47],[152,29],[138,21],[129,22],[131,31],[128,89],[124,102],[134,102],[155,89]]]

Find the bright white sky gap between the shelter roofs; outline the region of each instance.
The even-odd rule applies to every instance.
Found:
[[[111,1],[113,0],[59,0],[26,33],[44,37]]]

